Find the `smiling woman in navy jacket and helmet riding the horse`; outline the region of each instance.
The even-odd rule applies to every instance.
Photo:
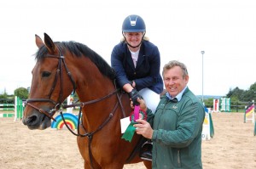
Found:
[[[154,112],[163,91],[160,52],[145,34],[143,18],[137,14],[127,16],[122,25],[123,38],[111,54],[111,65],[117,84],[129,93],[133,103],[138,104],[137,98],[143,98]]]

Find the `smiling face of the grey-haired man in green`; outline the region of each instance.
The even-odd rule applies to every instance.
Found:
[[[163,74],[167,92],[174,98],[180,93],[189,82],[189,76],[183,77],[183,70],[179,66],[174,66],[166,70]]]

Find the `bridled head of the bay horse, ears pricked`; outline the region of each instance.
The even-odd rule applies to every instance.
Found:
[[[44,42],[36,35],[37,63],[32,70],[32,85],[26,100],[23,123],[30,129],[50,127],[51,119],[61,103],[75,89],[73,76],[67,69],[64,48],[44,33]],[[65,89],[65,90],[64,90]]]

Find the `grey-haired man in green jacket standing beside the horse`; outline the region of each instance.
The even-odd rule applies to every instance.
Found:
[[[203,104],[187,86],[189,74],[183,63],[170,61],[162,76],[167,93],[161,97],[155,114],[143,99],[137,99],[148,120],[137,120],[136,132],[153,141],[153,168],[201,169]]]

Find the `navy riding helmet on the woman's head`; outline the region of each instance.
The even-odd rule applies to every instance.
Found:
[[[146,25],[142,17],[137,14],[127,16],[123,22],[122,33],[146,31]]]

